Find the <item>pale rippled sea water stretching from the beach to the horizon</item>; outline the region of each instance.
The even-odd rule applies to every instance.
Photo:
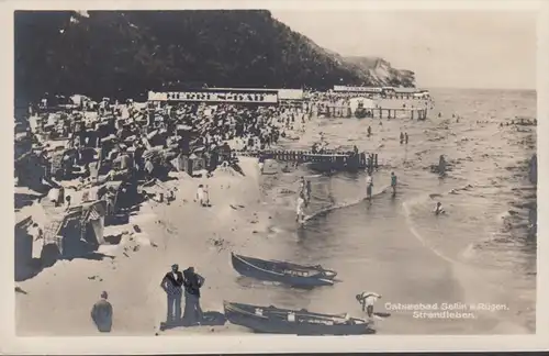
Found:
[[[425,121],[402,114],[383,119],[383,125],[378,118],[318,118],[301,141],[287,144],[307,148],[323,132],[333,147],[378,152],[383,166],[373,175],[371,203],[363,200],[363,173],[313,176],[305,167],[289,174],[278,167],[279,174],[266,175],[262,188],[273,210],[268,238],[276,243],[261,256],[320,264],[337,270],[339,281],[310,291],[249,286],[255,293],[247,301],[363,316],[355,296],[369,290],[382,294],[377,311],[391,313],[377,322],[381,333],[535,332],[536,240],[527,237],[527,223],[505,230],[502,216],[512,202],[535,199],[524,188],[530,186],[527,160],[536,152],[536,129],[517,132],[500,123],[535,119],[536,93],[432,94],[435,108]],[[408,133],[407,145],[400,144],[400,132]],[[430,171],[440,155],[452,166],[442,179]],[[399,177],[395,198],[383,192],[391,171]],[[306,209],[313,216],[301,227],[294,209],[300,176],[312,176],[313,187]],[[456,193],[449,193],[452,189]],[[447,214],[433,214],[437,201]],[[419,304],[437,309],[425,312]],[[450,313],[442,304],[466,307]]]

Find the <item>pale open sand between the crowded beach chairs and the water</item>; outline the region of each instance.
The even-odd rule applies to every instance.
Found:
[[[176,201],[146,202],[130,224],[105,227],[105,236],[122,234],[122,240],[101,246],[102,260],[61,260],[18,283],[26,292],[16,298],[22,334],[97,334],[89,313],[102,290],[115,305],[113,335],[155,333],[166,314],[160,279],[173,263],[194,266],[205,277],[202,307],[219,311],[229,248],[253,244],[269,223],[261,212],[257,163],[244,157],[240,165],[245,176],[227,170],[203,180],[211,208],[193,201],[197,179],[179,177],[168,182],[178,189]]]

